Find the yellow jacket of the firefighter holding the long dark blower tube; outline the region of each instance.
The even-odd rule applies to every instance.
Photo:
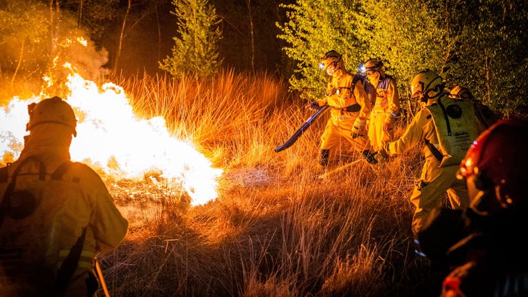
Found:
[[[364,125],[372,107],[362,81],[347,71],[339,71],[341,75],[331,77],[327,85],[327,97],[318,100],[319,106],[328,104],[332,108],[331,119],[336,126],[350,121]]]

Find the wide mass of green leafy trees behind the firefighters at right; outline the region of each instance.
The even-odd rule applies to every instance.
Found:
[[[448,88],[469,87],[492,109],[527,117],[528,7],[524,0],[298,0],[277,24],[283,50],[296,61],[292,87],[316,96],[318,56],[338,50],[353,64],[381,58],[402,100],[422,69]],[[352,62],[352,63],[350,63]],[[318,93],[319,92],[319,93]]]

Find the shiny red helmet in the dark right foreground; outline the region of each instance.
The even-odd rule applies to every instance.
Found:
[[[475,188],[470,207],[479,214],[503,208],[526,208],[528,185],[528,122],[501,120],[484,131],[470,146],[457,177]]]

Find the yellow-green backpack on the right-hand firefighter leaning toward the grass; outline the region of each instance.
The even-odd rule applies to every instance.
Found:
[[[472,102],[440,96],[426,107],[437,130],[439,148],[426,142],[440,167],[459,165],[473,141],[480,135]]]

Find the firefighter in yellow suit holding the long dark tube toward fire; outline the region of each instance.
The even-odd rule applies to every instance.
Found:
[[[377,163],[366,135],[366,120],[371,112],[363,84],[344,67],[341,54],[331,50],[321,57],[320,69],[330,76],[326,96],[307,107],[331,107],[331,118],[321,136],[320,165],[327,166],[336,156],[343,139],[360,151],[369,163]]]

